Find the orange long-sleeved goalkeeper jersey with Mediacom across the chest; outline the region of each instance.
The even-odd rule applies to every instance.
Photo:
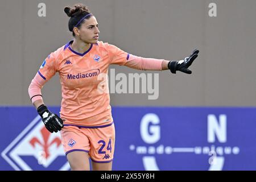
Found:
[[[39,100],[40,88],[59,72],[61,83],[60,117],[65,125],[106,126],[113,122],[108,87],[102,92],[102,78],[108,75],[110,64],[126,65],[142,70],[162,70],[162,61],[129,55],[103,42],[92,44],[85,53],[72,50],[69,42],[52,52],[32,80],[28,93],[31,101]],[[104,73],[104,74],[102,74]],[[39,76],[40,75],[40,76]],[[105,79],[106,80],[106,79]],[[105,82],[108,85],[108,82]]]

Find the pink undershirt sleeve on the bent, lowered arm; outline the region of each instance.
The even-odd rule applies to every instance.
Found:
[[[37,100],[42,100],[41,89],[43,88],[43,85],[46,84],[46,82],[46,80],[44,80],[38,73],[36,73],[35,77],[31,81],[30,86],[28,87],[28,95],[30,96],[32,103]]]

